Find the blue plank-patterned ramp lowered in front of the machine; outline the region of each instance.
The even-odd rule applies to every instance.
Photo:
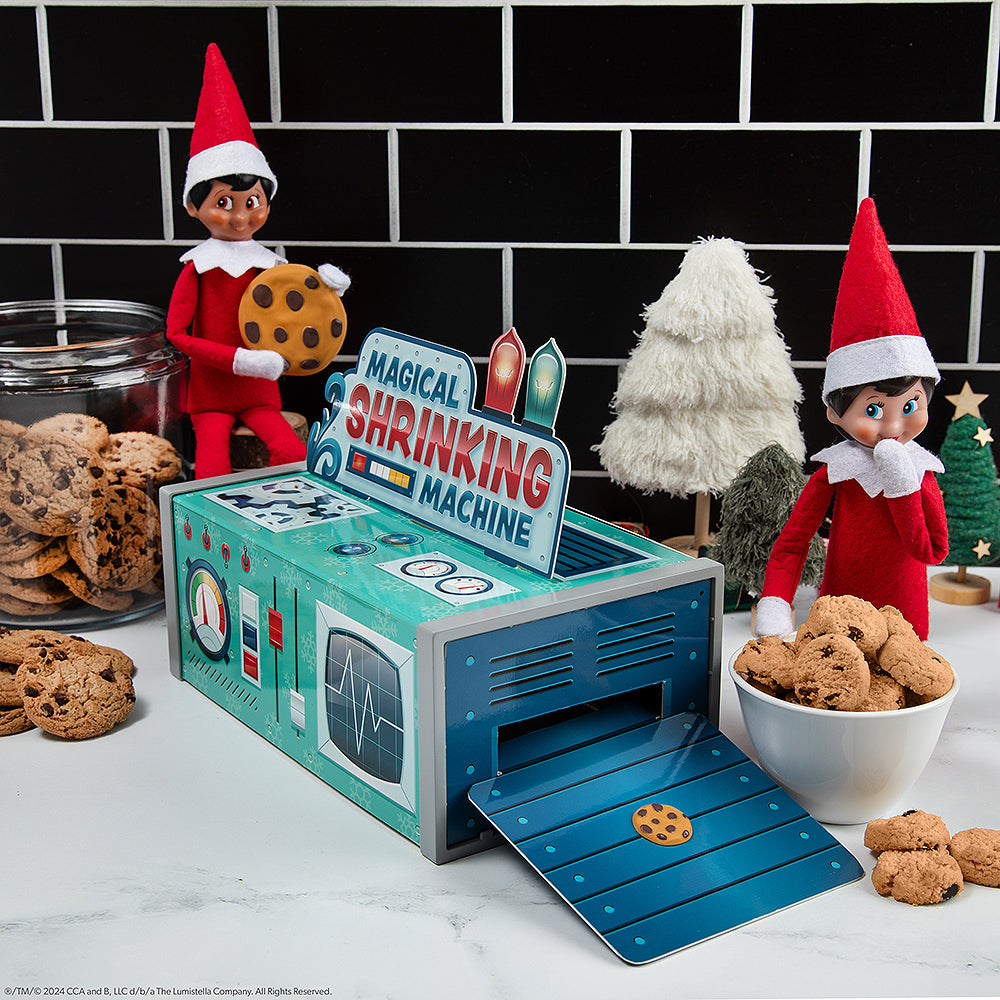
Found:
[[[857,860],[707,719],[683,713],[510,774],[469,798],[621,958],[650,962],[861,878]],[[691,821],[652,843],[651,803]]]

